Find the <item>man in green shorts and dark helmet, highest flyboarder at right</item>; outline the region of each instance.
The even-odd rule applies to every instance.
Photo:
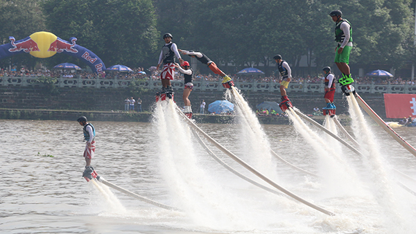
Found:
[[[343,77],[338,79],[341,89],[346,93],[348,84],[354,82],[349,70],[349,53],[352,49],[352,26],[346,19],[343,19],[343,12],[333,10],[329,13],[335,22],[335,41],[338,43],[335,48],[335,64],[343,73]],[[347,94],[347,93],[346,93]]]

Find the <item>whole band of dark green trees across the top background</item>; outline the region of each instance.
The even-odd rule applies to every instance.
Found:
[[[42,4],[40,4],[42,3]],[[277,53],[296,67],[302,56],[320,69],[333,64],[331,10],[352,24],[351,64],[400,68],[415,60],[411,0],[0,0],[3,43],[49,30],[94,51],[107,66],[152,66],[162,35],[238,68],[272,64]],[[24,6],[24,7],[21,7]],[[43,12],[43,13],[42,13]],[[46,25],[45,25],[46,24]],[[30,56],[15,60],[35,61]],[[40,59],[38,59],[40,60]],[[64,55],[53,64],[75,60]],[[5,62],[3,62],[4,64]]]

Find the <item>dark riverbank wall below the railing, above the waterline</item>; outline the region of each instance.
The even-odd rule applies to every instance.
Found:
[[[255,111],[256,105],[263,101],[280,102],[279,92],[267,91],[241,91],[245,100],[248,100],[250,107]],[[47,115],[55,116],[54,118],[67,119],[66,114],[76,113],[79,116],[81,113],[90,113],[94,118],[103,120],[139,120],[149,121],[146,114],[128,114],[123,113],[124,100],[132,96],[132,91],[126,88],[59,88],[51,93],[43,87],[0,87],[0,118],[11,118],[18,113],[21,116],[36,114],[46,118]],[[304,114],[312,114],[313,107],[320,109],[325,106],[323,93],[304,93],[304,92],[290,92],[289,98],[297,109]],[[361,97],[376,111],[381,118],[385,118],[385,107],[383,94],[381,93],[363,93]],[[154,91],[143,92],[139,97],[143,100],[142,109],[151,113],[153,105],[155,104]],[[225,89],[223,91],[201,91],[194,90],[189,99],[192,103],[192,109],[195,118],[200,112],[200,103],[205,100],[207,107],[209,103],[215,100],[223,100],[225,98]],[[182,89],[175,93],[175,102],[180,107],[183,105]],[[337,115],[347,115],[347,100],[340,94],[336,93],[334,100],[337,107]],[[207,107],[205,110],[207,110]],[[38,111],[35,111],[38,110]],[[14,111],[14,112],[12,112]],[[49,114],[49,113],[53,114]],[[114,114],[115,113],[115,114]],[[87,116],[87,114],[85,114]],[[134,116],[134,117],[132,117]],[[206,116],[206,117],[204,117]],[[28,118],[28,117],[22,117]],[[201,119],[209,118],[226,118],[226,116],[211,116],[201,115]],[[263,117],[261,117],[263,118]],[[274,117],[265,116],[263,123],[283,123],[284,120],[272,120]],[[278,117],[279,119],[282,117]],[[37,119],[34,116],[34,119]],[[68,118],[69,119],[69,118]],[[71,117],[71,119],[73,119]],[[260,118],[259,118],[260,119]],[[284,119],[284,118],[282,118]],[[201,120],[202,121],[202,120]],[[216,121],[214,121],[215,123]],[[209,121],[211,123],[211,121]]]

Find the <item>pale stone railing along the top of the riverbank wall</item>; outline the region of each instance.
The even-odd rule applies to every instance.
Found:
[[[21,76],[8,77],[0,76],[0,85],[3,87],[39,87],[42,84],[36,82],[37,77]],[[56,87],[78,87],[78,88],[127,88],[131,80],[119,79],[82,79],[82,78],[57,78]],[[279,92],[280,84],[277,82],[239,82],[234,80],[236,87],[243,91],[255,92]],[[160,89],[159,80],[143,80],[138,83],[139,86],[148,90]],[[173,89],[181,89],[184,86],[183,80],[173,80]],[[194,80],[194,89],[200,91],[223,91],[220,81]],[[354,84],[356,91],[359,93],[416,93],[416,85],[410,84]],[[287,89],[288,92],[302,93],[324,93],[324,84],[320,83],[295,83],[291,82]],[[336,89],[337,93],[341,93],[340,89]]]

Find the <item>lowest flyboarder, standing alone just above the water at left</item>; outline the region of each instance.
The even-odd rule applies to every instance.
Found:
[[[95,128],[91,123],[88,123],[87,117],[85,116],[81,116],[80,118],[78,118],[77,121],[81,126],[83,126],[84,140],[87,142],[85,144],[85,150],[83,154],[86,163],[83,177],[92,179],[92,173],[94,172],[94,168],[91,165],[91,160],[92,158],[94,158],[94,153],[96,149]]]

